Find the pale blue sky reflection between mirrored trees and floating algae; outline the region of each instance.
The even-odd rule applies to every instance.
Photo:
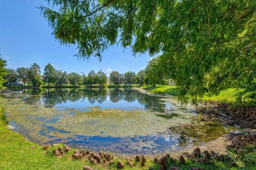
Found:
[[[138,100],[135,100],[133,102],[128,102],[123,99],[119,100],[118,102],[113,102],[109,99],[110,96],[107,96],[107,99],[103,101],[102,103],[99,103],[98,101],[95,101],[95,103],[91,104],[86,97],[85,99],[79,99],[77,101],[67,101],[66,103],[57,104],[55,107],[66,107],[66,108],[87,108],[87,107],[94,107],[94,106],[100,106],[102,109],[105,108],[118,108],[118,109],[125,109],[127,111],[131,111],[134,109],[143,109],[145,108],[144,105],[140,104]]]

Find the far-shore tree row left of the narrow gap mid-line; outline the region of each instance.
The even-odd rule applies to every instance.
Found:
[[[34,63],[29,68],[19,67],[18,69],[6,69],[6,61],[0,58],[0,87],[3,83],[15,83],[19,79],[23,85],[41,86],[43,84],[55,84],[55,86],[62,86],[63,84],[71,84],[72,86],[93,85],[99,84],[103,86],[107,83],[107,75],[101,70],[96,73],[94,70],[90,71],[86,76],[72,72],[67,73],[62,70],[55,70],[51,64],[47,64],[44,68],[44,73],[41,75],[41,68]]]

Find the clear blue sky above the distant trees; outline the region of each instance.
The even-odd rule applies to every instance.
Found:
[[[138,72],[145,69],[149,55],[134,57],[130,48],[110,47],[102,54],[102,61],[91,57],[77,60],[75,46],[61,46],[51,35],[48,22],[36,8],[48,6],[45,0],[0,0],[0,54],[7,67],[29,67],[33,63],[44,66],[51,63],[55,69],[67,72],[90,70],[106,73]]]

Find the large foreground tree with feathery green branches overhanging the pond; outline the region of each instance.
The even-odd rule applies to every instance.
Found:
[[[196,101],[206,92],[218,93],[227,88],[222,82],[235,87],[243,84],[249,93],[256,91],[250,85],[255,81],[251,62],[256,50],[255,1],[49,2],[58,11],[43,6],[41,10],[53,35],[61,44],[77,44],[78,57],[101,59],[105,49],[119,42],[131,46],[134,53],[161,53],[166,77],[181,87],[182,103],[188,96]],[[236,83],[229,79],[234,70]],[[229,76],[213,78],[211,82],[217,85],[211,86],[207,77],[213,71]],[[242,82],[238,78],[243,75],[254,78]]]

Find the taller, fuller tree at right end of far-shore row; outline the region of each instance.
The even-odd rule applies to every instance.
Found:
[[[156,84],[163,84],[164,71],[161,64],[159,64],[159,58],[152,58],[149,61],[145,69],[145,74],[147,83],[151,84],[151,86],[155,87]]]

